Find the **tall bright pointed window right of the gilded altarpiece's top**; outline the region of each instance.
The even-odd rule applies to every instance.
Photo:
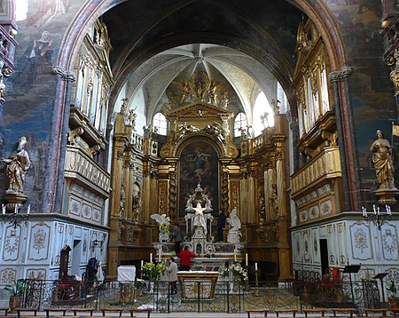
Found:
[[[274,113],[263,91],[255,100],[253,118],[254,136],[259,136],[266,127],[274,126]]]

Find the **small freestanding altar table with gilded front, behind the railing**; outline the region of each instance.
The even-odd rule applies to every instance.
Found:
[[[177,279],[182,290],[182,301],[213,300],[219,272],[179,271]]]

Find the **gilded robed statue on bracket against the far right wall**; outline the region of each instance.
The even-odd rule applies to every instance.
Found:
[[[372,143],[370,151],[374,153],[372,162],[374,163],[379,189],[395,189],[392,148],[387,139],[383,139],[382,131],[377,131],[377,139]]]

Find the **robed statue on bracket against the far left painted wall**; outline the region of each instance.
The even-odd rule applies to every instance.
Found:
[[[12,153],[10,158],[1,159],[3,163],[7,163],[7,168],[5,170],[8,177],[7,193],[23,193],[25,174],[31,163],[27,150],[25,150],[26,144],[26,137],[21,137],[20,140],[18,140],[17,150]]]

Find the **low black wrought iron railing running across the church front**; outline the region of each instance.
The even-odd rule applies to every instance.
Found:
[[[172,294],[169,282],[78,282],[23,280],[25,307],[123,307],[153,309],[154,313],[223,312],[245,313],[247,308],[296,309],[322,307],[379,308],[379,290],[374,281],[363,282],[221,282],[212,298],[204,282],[194,282],[195,297],[184,299],[182,290]]]

